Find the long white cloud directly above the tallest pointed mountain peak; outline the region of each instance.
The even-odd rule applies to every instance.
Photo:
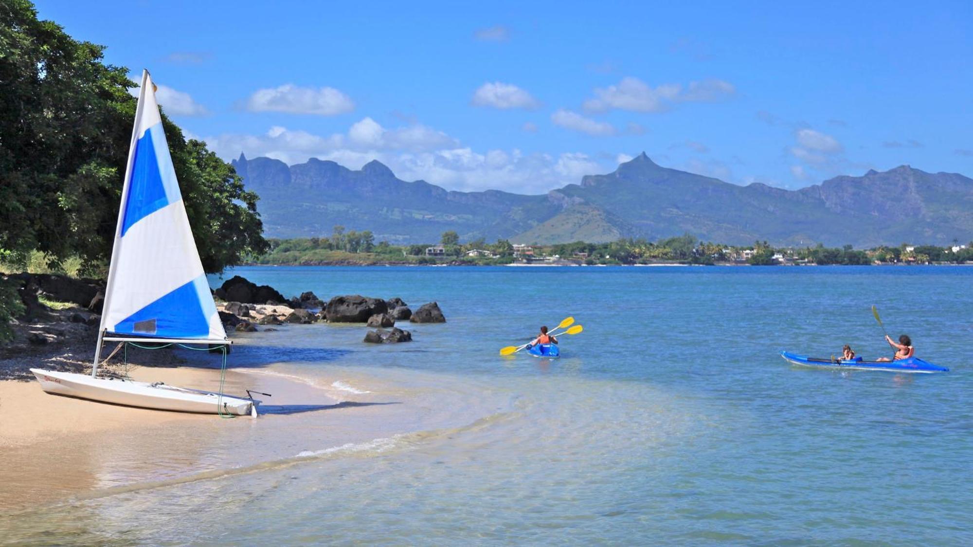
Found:
[[[584,102],[589,112],[605,112],[611,109],[632,112],[663,112],[674,102],[712,102],[736,93],[733,84],[723,80],[690,82],[686,88],[680,84],[663,84],[653,88],[645,82],[627,76],[615,86],[595,88],[595,97]]]

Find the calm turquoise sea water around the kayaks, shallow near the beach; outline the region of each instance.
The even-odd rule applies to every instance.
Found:
[[[288,296],[437,301],[448,323],[409,324],[414,342],[387,346],[362,344],[360,326],[240,335],[232,366],[389,405],[270,414],[246,426],[273,445],[247,449],[259,465],[227,451],[197,480],[21,513],[0,521],[8,541],[973,543],[973,268],[233,274]],[[873,304],[951,372],[779,357],[890,354]],[[498,356],[566,316],[584,332],[561,339],[559,359]],[[352,440],[330,442],[336,431]]]

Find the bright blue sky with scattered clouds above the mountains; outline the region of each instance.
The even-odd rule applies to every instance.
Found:
[[[679,4],[679,5],[676,5]],[[39,1],[230,159],[542,193],[658,164],[973,175],[973,3]]]

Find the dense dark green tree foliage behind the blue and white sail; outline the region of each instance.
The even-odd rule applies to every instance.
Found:
[[[36,250],[95,272],[111,254],[136,100],[104,49],[26,0],[0,4],[0,260]],[[206,272],[262,253],[257,195],[164,113],[162,124]]]

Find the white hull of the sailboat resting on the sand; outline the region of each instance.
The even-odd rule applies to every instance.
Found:
[[[256,405],[249,399],[230,397],[210,391],[186,389],[164,383],[135,382],[92,378],[87,374],[30,369],[48,393],[79,397],[102,403],[129,407],[199,414],[257,416]],[[217,406],[219,401],[219,407]]]

